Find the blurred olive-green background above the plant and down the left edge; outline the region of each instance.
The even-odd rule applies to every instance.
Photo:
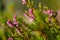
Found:
[[[42,7],[48,6],[50,9],[57,11],[60,9],[60,0],[33,0],[34,7],[38,9],[38,3],[41,2]],[[3,28],[3,24],[1,24],[2,17],[5,15],[12,15],[14,11],[16,11],[20,16],[23,16],[23,13],[28,8],[26,5],[22,5],[21,0],[0,0],[0,38],[5,40],[5,29]],[[2,17],[1,17],[2,16]],[[3,22],[2,22],[3,23]],[[1,39],[0,39],[1,40]]]

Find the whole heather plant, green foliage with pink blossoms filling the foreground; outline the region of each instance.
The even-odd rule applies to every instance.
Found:
[[[59,22],[56,13],[47,6],[34,7],[34,1],[22,0],[22,4],[28,7],[24,18],[20,14],[0,15],[1,40],[60,40]]]

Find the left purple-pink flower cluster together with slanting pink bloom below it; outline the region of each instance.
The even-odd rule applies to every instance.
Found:
[[[17,14],[15,14],[15,15],[13,16],[13,22],[12,22],[10,19],[8,19],[7,24],[8,24],[8,26],[10,26],[11,28],[13,28],[13,27],[15,26],[15,27],[16,27],[16,28],[15,28],[16,32],[18,33],[18,35],[20,35],[20,30],[18,29],[18,21],[17,21],[16,17],[17,17]]]

